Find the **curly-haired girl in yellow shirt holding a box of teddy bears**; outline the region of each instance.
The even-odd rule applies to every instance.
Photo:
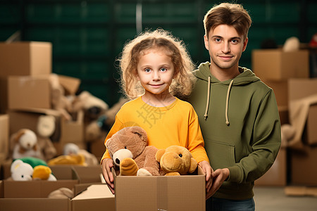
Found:
[[[174,96],[189,95],[194,82],[194,65],[182,41],[165,30],[144,32],[123,48],[120,69],[123,90],[132,101],[117,113],[106,141],[123,127],[137,125],[147,132],[151,146],[184,146],[206,172],[209,191],[211,166],[197,114],[189,103]],[[114,193],[111,167],[113,160],[106,151],[101,158],[102,174]]]

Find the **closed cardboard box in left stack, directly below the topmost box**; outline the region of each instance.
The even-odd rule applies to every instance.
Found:
[[[8,109],[51,108],[49,77],[8,77]]]

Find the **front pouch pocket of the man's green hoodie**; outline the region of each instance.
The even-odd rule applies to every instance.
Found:
[[[208,156],[213,170],[235,165],[235,146],[215,141],[209,141],[208,145]]]

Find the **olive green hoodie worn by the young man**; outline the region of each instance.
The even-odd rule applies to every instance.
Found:
[[[273,165],[280,148],[280,117],[273,90],[251,70],[220,82],[209,62],[194,71],[189,97],[199,116],[206,152],[213,170],[228,168],[230,176],[213,195],[243,200],[254,196],[254,181]],[[210,81],[209,81],[210,79]]]

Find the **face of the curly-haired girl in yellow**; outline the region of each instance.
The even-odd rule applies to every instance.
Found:
[[[137,78],[145,94],[167,95],[174,77],[174,65],[163,50],[149,50],[141,53],[137,64]]]

